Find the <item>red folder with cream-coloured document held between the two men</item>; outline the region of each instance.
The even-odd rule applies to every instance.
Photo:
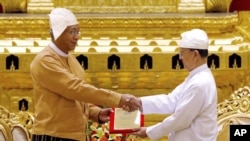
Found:
[[[144,116],[139,110],[126,112],[122,108],[113,108],[110,114],[110,133],[130,133],[144,124]]]

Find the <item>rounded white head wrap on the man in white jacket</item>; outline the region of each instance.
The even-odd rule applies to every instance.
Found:
[[[181,34],[181,48],[208,49],[208,46],[207,33],[201,29],[193,29]]]

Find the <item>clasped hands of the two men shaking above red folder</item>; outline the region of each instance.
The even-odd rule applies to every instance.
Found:
[[[136,110],[140,110],[142,112],[141,99],[129,94],[122,94],[119,107],[128,112]]]

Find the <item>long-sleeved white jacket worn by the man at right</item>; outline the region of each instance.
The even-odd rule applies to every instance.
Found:
[[[168,135],[169,141],[216,141],[217,90],[203,64],[192,70],[171,93],[142,97],[144,114],[171,114],[147,128],[151,140]]]

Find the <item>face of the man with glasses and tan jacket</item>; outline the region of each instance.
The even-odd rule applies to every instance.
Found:
[[[68,53],[75,49],[80,34],[81,32],[78,25],[68,26],[55,42],[59,44],[58,48],[64,53]]]

